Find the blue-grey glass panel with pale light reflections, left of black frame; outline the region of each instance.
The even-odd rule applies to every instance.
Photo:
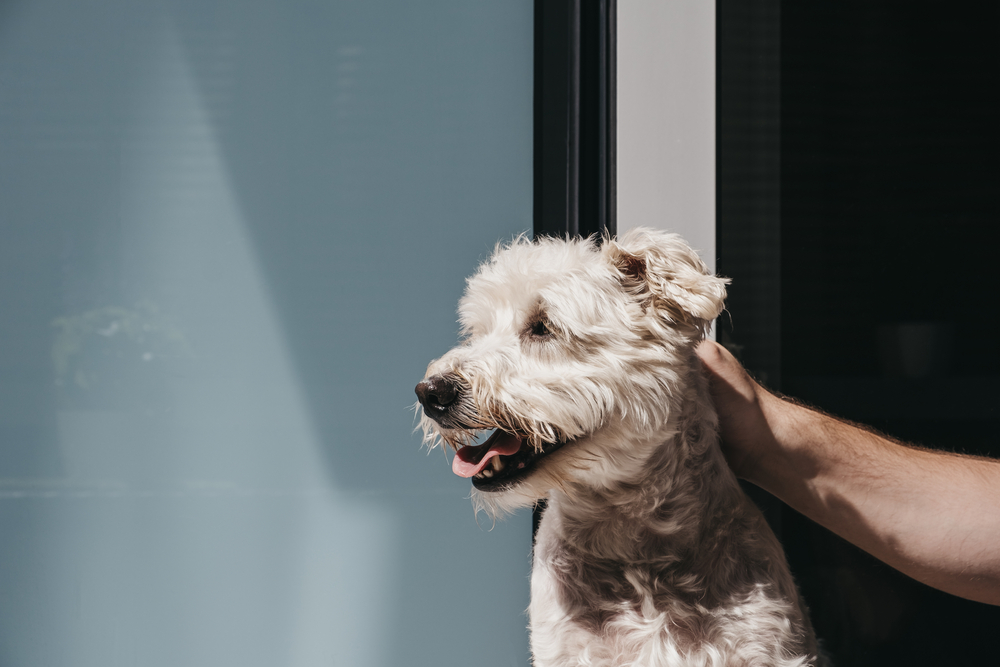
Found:
[[[531,3],[0,6],[0,665],[527,664],[413,434],[531,226]]]

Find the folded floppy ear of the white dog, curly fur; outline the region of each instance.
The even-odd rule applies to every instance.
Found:
[[[703,331],[722,312],[729,279],[713,276],[677,234],[631,229],[620,239],[607,239],[601,254],[644,309]]]

